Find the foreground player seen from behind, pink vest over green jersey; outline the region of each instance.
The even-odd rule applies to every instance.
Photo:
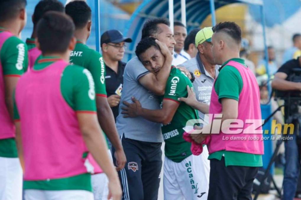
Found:
[[[117,172],[97,120],[92,75],[68,63],[76,45],[74,30],[66,14],[44,14],[36,41],[42,57],[16,87],[14,119],[22,136],[17,144],[24,158],[26,200],[94,199],[88,153],[109,179],[107,198],[121,198]]]

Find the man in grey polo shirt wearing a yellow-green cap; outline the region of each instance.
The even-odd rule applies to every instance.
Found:
[[[204,120],[204,122],[208,122],[208,119],[204,118],[205,114],[209,112],[211,90],[214,80],[219,73],[219,65],[215,65],[213,62],[211,51],[212,35],[212,27],[205,27],[197,32],[197,35],[195,36],[195,45],[198,49],[197,56],[179,65],[185,67],[194,74],[195,81],[193,82],[193,87],[196,99],[200,104],[191,106],[198,110],[199,117]],[[180,100],[186,101],[187,98],[182,98]],[[189,102],[186,103],[189,104]],[[208,106],[204,106],[201,103],[205,103]]]

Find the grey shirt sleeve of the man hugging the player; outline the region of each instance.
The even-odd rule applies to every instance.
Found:
[[[150,73],[139,61],[137,57],[130,60],[127,64],[128,73],[130,76],[132,76],[133,79],[137,80],[141,78],[142,76]]]

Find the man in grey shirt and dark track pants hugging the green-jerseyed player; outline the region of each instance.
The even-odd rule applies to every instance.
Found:
[[[169,25],[167,19],[150,19],[143,26],[142,38],[157,38],[172,54],[175,40]],[[153,59],[157,57],[154,56]],[[172,56],[170,55],[170,59],[166,60],[166,65],[164,64],[155,75],[150,73],[137,57],[131,59],[124,70],[120,102],[132,103],[131,98],[135,96],[144,108],[159,109],[157,95],[163,95],[165,92]],[[157,200],[162,168],[161,124],[150,122],[142,117],[124,118],[121,113],[123,105],[120,105],[116,126],[127,159],[126,167],[118,172],[123,199]]]

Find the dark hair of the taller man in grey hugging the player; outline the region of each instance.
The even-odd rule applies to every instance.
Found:
[[[167,26],[170,26],[170,22],[166,18],[149,19],[143,25],[141,39],[161,33],[162,29],[158,27],[158,24],[166,24]]]

